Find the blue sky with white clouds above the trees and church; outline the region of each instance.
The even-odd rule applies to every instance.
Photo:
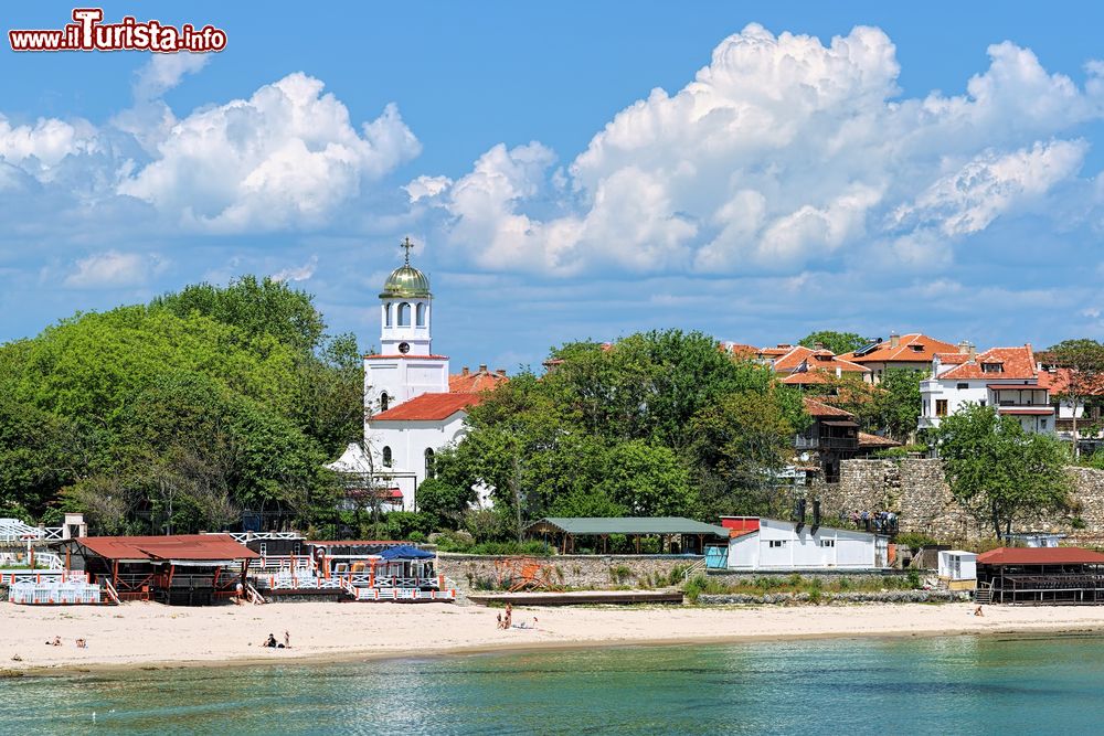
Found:
[[[0,341],[257,274],[367,351],[405,236],[454,371],[666,328],[1104,338],[1104,6],[304,8],[103,6],[219,53],[4,39]]]

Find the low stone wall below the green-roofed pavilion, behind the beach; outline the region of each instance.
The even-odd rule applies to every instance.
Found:
[[[498,555],[463,555],[448,552],[437,554],[437,568],[442,575],[456,580],[457,593],[467,595],[479,580],[498,579],[496,563],[508,557]],[[701,561],[701,557],[675,555],[553,555],[535,557],[541,565],[551,566],[551,574],[559,585],[582,590],[611,590],[628,587],[655,587],[672,570],[681,570]],[[681,583],[681,577],[679,578]]]

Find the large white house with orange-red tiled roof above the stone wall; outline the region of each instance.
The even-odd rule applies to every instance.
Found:
[[[938,427],[943,417],[974,403],[1016,417],[1027,431],[1054,431],[1050,390],[1039,381],[1031,345],[936,353],[931,370],[932,377],[920,384],[920,429]]]

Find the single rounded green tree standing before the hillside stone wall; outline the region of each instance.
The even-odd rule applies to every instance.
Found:
[[[1069,456],[1053,437],[976,404],[944,417],[935,436],[952,494],[998,536],[1017,518],[1065,505]]]

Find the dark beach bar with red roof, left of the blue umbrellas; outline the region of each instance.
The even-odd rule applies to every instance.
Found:
[[[235,596],[259,557],[229,534],[82,536],[57,543],[71,569],[115,600],[202,606]]]

